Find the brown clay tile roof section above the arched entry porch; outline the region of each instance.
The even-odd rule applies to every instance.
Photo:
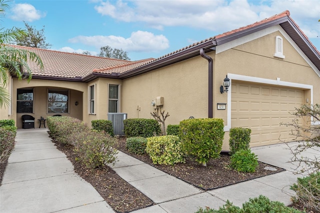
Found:
[[[119,66],[131,64],[132,61],[113,58],[82,55],[77,53],[60,52],[49,49],[10,45],[19,49],[26,49],[40,56],[44,70],[41,71],[35,63],[29,62],[33,76],[51,76],[61,78],[85,77],[98,67]]]

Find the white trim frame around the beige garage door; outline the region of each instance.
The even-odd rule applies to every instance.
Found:
[[[281,81],[280,78],[276,78],[276,80],[267,79],[267,78],[258,78],[246,75],[238,75],[238,74],[227,74],[228,78],[230,79],[230,87],[227,92],[227,123],[224,126],[224,131],[229,131],[231,128],[231,91],[232,91],[232,80],[239,80],[239,81],[246,81],[249,83],[262,83],[274,86],[286,86],[286,87],[295,87],[300,89],[310,89],[311,97],[310,97],[310,104],[313,104],[313,86],[308,84],[300,84],[300,83],[293,83],[288,81]],[[312,123],[315,125],[317,122]],[[320,122],[319,122],[320,124]]]

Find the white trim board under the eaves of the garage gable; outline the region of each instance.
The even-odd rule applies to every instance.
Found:
[[[282,36],[292,45],[292,47],[300,54],[300,56],[306,61],[306,63],[320,77],[320,70],[318,70],[316,68],[316,66],[310,61],[310,59],[298,47],[298,45],[290,38],[290,36],[279,25],[274,25],[274,26],[268,27],[266,29],[259,30],[258,32],[254,32],[249,35],[237,38],[237,39],[232,40],[230,42],[227,42],[227,43],[224,43],[221,45],[217,45],[215,47],[215,54],[218,54],[218,53],[223,52],[225,50],[231,49],[233,47],[236,47],[238,45],[244,44],[246,42],[252,41],[254,39],[260,38],[262,36],[265,36],[267,34],[270,34],[270,33],[276,32],[276,31],[279,31],[282,34]]]

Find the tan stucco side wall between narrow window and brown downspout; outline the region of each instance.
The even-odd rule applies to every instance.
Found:
[[[211,54],[213,57],[213,55]],[[208,115],[208,63],[200,56],[123,80],[121,111],[128,118],[152,118],[151,101],[163,97],[166,124]],[[138,110],[137,110],[138,109]]]

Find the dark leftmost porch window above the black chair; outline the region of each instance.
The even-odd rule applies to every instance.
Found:
[[[33,89],[16,90],[16,113],[33,113]]]

